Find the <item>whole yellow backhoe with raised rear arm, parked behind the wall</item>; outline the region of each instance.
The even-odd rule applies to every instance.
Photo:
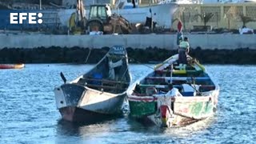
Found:
[[[126,18],[112,14],[109,4],[90,6],[89,18],[86,19],[82,0],[77,0],[77,10],[71,14],[69,28],[72,34],[88,34],[102,31],[103,34],[130,34],[132,26]]]

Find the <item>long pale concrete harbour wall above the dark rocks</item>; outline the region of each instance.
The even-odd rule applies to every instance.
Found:
[[[203,50],[250,48],[256,50],[256,34],[184,34],[190,39],[190,47]],[[43,35],[1,34],[2,48],[37,47],[89,47],[102,48],[122,45],[131,48],[148,47],[177,49],[176,34],[127,34],[127,35]]]

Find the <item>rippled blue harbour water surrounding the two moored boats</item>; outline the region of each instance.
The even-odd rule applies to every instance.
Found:
[[[151,65],[153,66],[153,65]],[[91,65],[33,64],[0,70],[0,143],[255,143],[256,66],[207,65],[221,87],[214,117],[182,128],[143,126],[124,116],[92,125],[63,122],[55,106],[59,73],[72,80]],[[152,71],[130,65],[136,80]]]

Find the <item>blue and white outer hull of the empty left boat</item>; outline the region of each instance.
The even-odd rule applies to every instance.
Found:
[[[62,118],[70,122],[91,122],[120,115],[126,98],[126,94],[110,94],[75,84],[64,84],[54,93]]]

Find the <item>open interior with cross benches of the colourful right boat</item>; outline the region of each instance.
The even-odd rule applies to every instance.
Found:
[[[215,90],[214,82],[197,64],[188,64],[180,69],[178,62],[166,66],[162,70],[154,70],[135,86],[134,95],[152,96],[166,94],[169,84],[177,88],[182,96],[201,96],[203,92]]]

